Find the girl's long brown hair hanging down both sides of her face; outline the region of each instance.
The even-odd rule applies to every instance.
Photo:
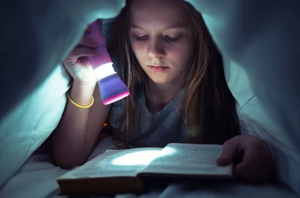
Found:
[[[201,14],[192,5],[182,1],[182,6],[191,13],[197,44],[194,57],[180,76],[184,87],[180,115],[184,122],[189,143],[223,144],[240,133],[235,109],[235,99],[225,81],[222,58],[218,53]],[[127,85],[130,95],[123,100],[124,111],[120,115],[118,137],[125,147],[131,136],[135,117],[135,96],[145,86],[146,74],[139,66],[129,42],[130,0],[122,9],[115,23],[115,34],[110,46],[111,57],[117,65],[117,73]]]

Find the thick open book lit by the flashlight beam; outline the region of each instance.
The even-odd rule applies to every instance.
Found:
[[[218,167],[220,145],[170,143],[165,148],[106,150],[58,178],[62,195],[139,194],[158,178],[230,178],[232,165]]]

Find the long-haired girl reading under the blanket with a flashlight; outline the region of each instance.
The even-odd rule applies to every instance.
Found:
[[[223,144],[240,133],[221,57],[190,4],[127,0],[115,29],[111,57],[131,94],[102,105],[85,57],[96,54],[97,43],[83,37],[63,62],[73,83],[53,137],[58,166],[81,165],[106,120],[125,148],[164,147],[170,142]],[[90,107],[78,108],[71,101]]]

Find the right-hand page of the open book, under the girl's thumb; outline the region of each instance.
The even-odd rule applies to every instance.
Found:
[[[159,157],[142,170],[144,173],[173,175],[230,176],[232,165],[219,167],[221,145],[168,144]]]

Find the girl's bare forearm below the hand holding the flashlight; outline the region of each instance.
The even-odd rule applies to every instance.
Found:
[[[90,104],[92,95],[94,104],[87,109],[78,108],[68,101],[53,132],[52,156],[60,168],[71,169],[85,161],[110,109],[110,105],[104,106],[101,102],[98,84],[83,86],[73,82],[70,97],[76,104]]]

